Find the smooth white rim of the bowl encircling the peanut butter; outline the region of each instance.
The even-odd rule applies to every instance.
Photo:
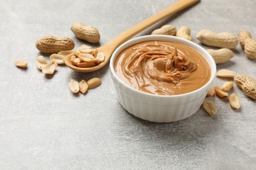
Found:
[[[156,40],[156,39],[164,39],[164,40]],[[168,40],[166,40],[166,39],[168,39]],[[135,88],[132,88],[128,84],[125,84],[125,82],[123,82],[116,75],[116,71],[114,69],[114,64],[115,64],[116,58],[117,58],[117,56],[118,56],[118,54],[120,52],[125,50],[125,48],[128,48],[129,46],[132,46],[132,45],[140,43],[140,42],[145,42],[145,41],[169,41],[169,42],[181,43],[181,44],[185,44],[187,46],[190,46],[191,48],[193,48],[194,50],[199,52],[203,56],[203,58],[205,58],[205,55],[206,55],[207,58],[205,58],[205,60],[207,61],[207,63],[209,64],[209,67],[211,68],[210,69],[211,70],[210,79],[202,87],[200,87],[200,88],[198,88],[198,89],[196,89],[196,90],[194,90],[192,92],[182,93],[182,94],[177,94],[177,95],[158,95],[158,94],[146,93],[146,92],[142,92],[140,90],[137,90]],[[198,49],[195,49],[195,48],[200,49],[202,52],[198,51]],[[113,52],[113,54],[112,54],[112,56],[110,58],[110,73],[112,73],[112,76],[114,76],[114,78],[119,83],[121,83],[123,86],[125,86],[126,88],[129,88],[129,90],[131,90],[131,91],[133,91],[135,93],[140,93],[142,95],[148,95],[150,97],[176,98],[176,97],[185,97],[187,95],[192,95],[194,93],[198,93],[203,88],[207,88],[207,86],[209,86],[209,84],[211,84],[214,81],[215,75],[216,75],[216,71],[217,71],[217,67],[216,67],[215,61],[211,57],[211,55],[207,52],[207,50],[205,50],[202,46],[200,46],[199,44],[196,44],[195,42],[188,41],[186,39],[182,39],[180,37],[175,37],[175,36],[172,36],[172,35],[142,35],[140,37],[135,37],[133,39],[129,39],[129,41],[126,41],[123,44],[121,44],[120,46],[118,46],[116,48],[116,50]]]

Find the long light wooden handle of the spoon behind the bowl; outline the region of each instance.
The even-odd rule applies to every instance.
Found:
[[[177,3],[171,5],[167,9],[162,10],[161,12],[158,12],[158,14],[155,14],[154,16],[151,16],[150,18],[147,18],[146,20],[140,22],[139,24],[131,27],[130,29],[127,29],[127,31],[124,31],[123,33],[119,34],[115,39],[112,39],[112,41],[108,42],[108,46],[111,46],[114,50],[121,45],[123,42],[131,39],[131,37],[137,35],[150,25],[155,24],[156,22],[159,22],[163,18],[170,16],[171,14],[175,14],[176,12],[179,12],[182,9],[185,9],[186,7],[189,7],[190,5],[193,5],[194,3],[199,2],[200,0],[179,0]]]

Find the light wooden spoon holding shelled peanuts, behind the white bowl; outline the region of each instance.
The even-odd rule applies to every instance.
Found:
[[[115,39],[112,39],[112,41],[108,42],[104,46],[100,46],[100,48],[98,48],[98,52],[104,52],[105,60],[99,65],[96,65],[93,67],[76,67],[75,65],[72,65],[70,61],[71,56],[67,56],[64,61],[68,67],[78,72],[89,73],[89,72],[96,71],[101,67],[103,67],[104,65],[106,65],[106,63],[108,63],[114,50],[116,50],[116,48],[119,45],[123,44],[123,42],[131,39],[131,37],[137,35],[137,33],[140,33],[140,31],[143,31],[150,25],[153,25],[156,22],[159,22],[160,20],[162,20],[163,18],[170,16],[171,14],[175,14],[176,12],[179,12],[180,10],[185,9],[186,7],[189,7],[190,5],[193,5],[194,3],[197,3],[199,1],[200,0],[180,0],[177,3],[168,7],[167,9],[162,10],[158,14],[155,14],[154,16],[151,16],[150,18],[131,27],[130,29],[127,29],[127,31],[124,31],[123,33],[118,35]]]

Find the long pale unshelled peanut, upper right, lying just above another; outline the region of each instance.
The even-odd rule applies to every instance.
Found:
[[[232,33],[214,33],[213,31],[203,29],[196,34],[196,38],[207,46],[220,48],[235,48],[238,39]]]

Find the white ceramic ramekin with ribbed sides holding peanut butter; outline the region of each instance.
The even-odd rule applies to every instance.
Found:
[[[114,70],[118,54],[125,48],[144,41],[168,41],[186,44],[200,52],[211,67],[211,78],[204,86],[193,92],[180,95],[154,95],[141,92],[125,84]],[[216,65],[210,54],[194,42],[169,35],[146,35],[131,39],[119,46],[110,59],[110,73],[116,88],[119,103],[131,114],[152,122],[175,122],[188,118],[202,105],[203,99],[212,86]]]

